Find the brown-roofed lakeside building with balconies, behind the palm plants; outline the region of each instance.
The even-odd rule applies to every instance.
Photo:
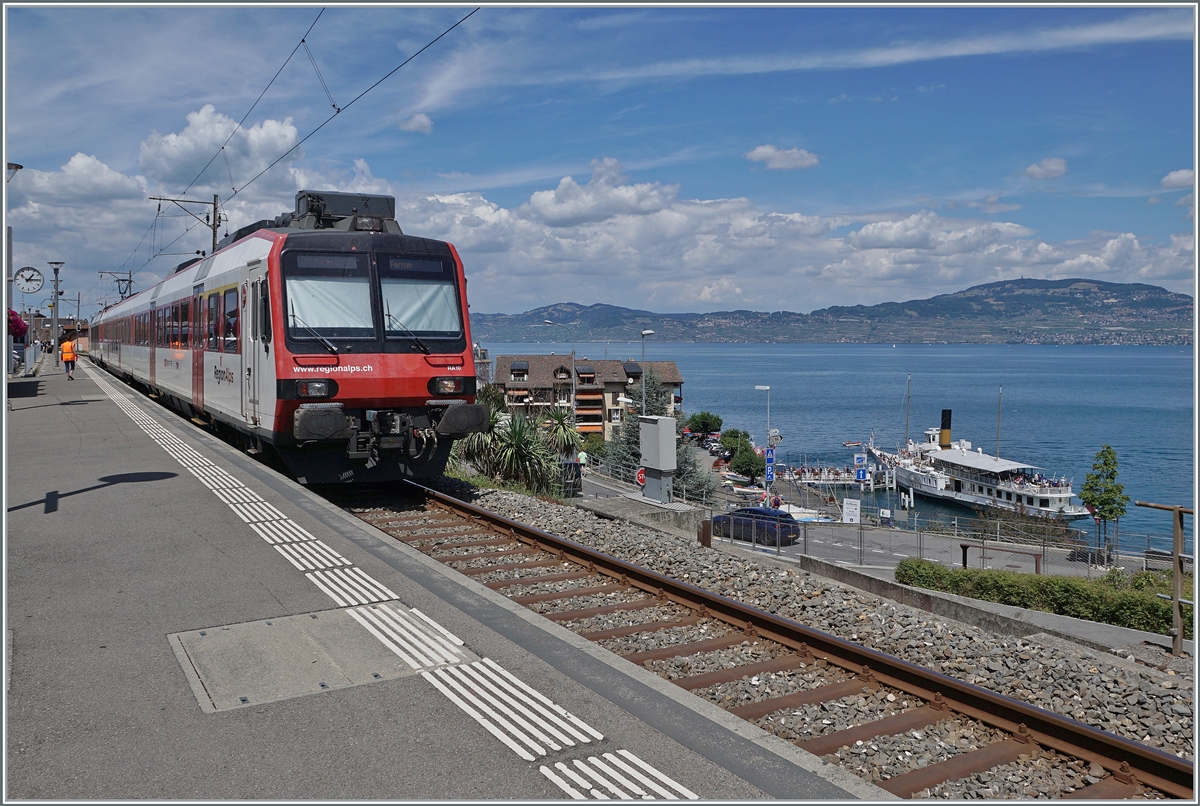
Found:
[[[676,362],[647,361],[646,365],[659,377],[662,389],[671,391],[674,411],[682,411],[683,375]],[[504,390],[510,410],[523,409],[532,415],[552,405],[574,408],[581,434],[604,434],[605,439],[612,439],[612,427],[620,422],[628,408],[618,398],[629,397],[629,392],[642,383],[642,363],[576,356],[574,401],[570,355],[497,356],[493,383]]]

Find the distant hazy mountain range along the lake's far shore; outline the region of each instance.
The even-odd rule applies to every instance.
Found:
[[[524,313],[472,313],[476,342],[637,341],[972,344],[1190,344],[1193,299],[1142,283],[1008,279],[928,300],[835,306],[812,313],[653,313],[559,302]]]

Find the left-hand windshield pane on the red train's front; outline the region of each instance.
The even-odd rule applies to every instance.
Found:
[[[288,337],[373,338],[365,255],[296,254],[284,275]]]

